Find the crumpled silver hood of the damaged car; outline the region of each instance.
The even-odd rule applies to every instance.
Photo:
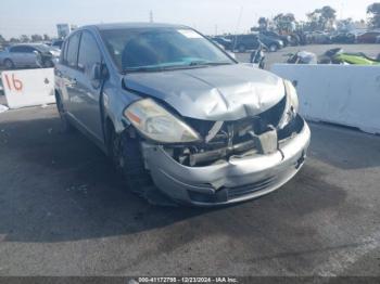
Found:
[[[125,76],[125,86],[157,98],[186,117],[238,120],[276,105],[284,95],[281,78],[243,64]]]

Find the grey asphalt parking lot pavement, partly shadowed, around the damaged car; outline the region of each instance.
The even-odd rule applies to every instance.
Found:
[[[288,48],[268,66],[332,48]],[[311,128],[308,159],[279,191],[217,209],[166,208],[129,193],[84,135],[62,133],[55,106],[2,113],[0,274],[380,276],[380,137]]]

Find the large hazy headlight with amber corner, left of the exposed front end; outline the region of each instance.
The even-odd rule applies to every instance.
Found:
[[[142,135],[161,143],[195,142],[200,135],[153,100],[140,100],[124,111],[125,117]]]

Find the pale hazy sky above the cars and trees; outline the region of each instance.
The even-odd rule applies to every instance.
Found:
[[[366,18],[367,7],[378,0],[2,0],[0,35],[48,34],[56,36],[55,25],[149,22],[191,26],[203,34],[245,33],[259,16],[294,13],[297,20],[324,5],[338,17]]]

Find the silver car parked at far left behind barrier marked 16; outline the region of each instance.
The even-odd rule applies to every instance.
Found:
[[[7,69],[53,67],[60,51],[42,43],[15,44],[0,52],[0,64]]]

